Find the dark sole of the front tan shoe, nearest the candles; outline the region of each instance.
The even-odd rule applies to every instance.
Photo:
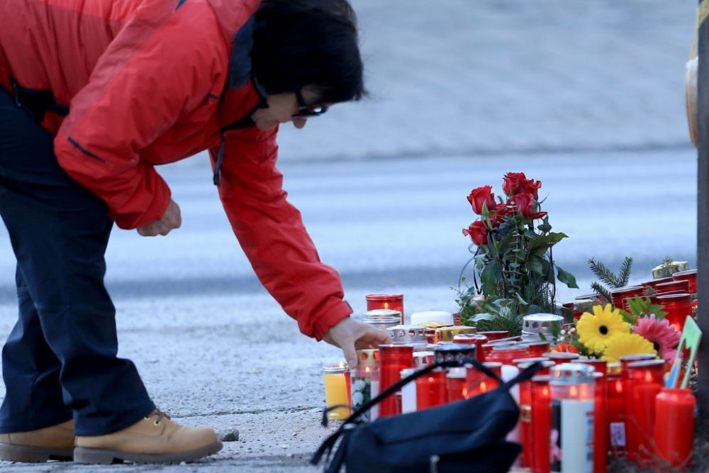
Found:
[[[216,441],[206,447],[201,447],[189,452],[171,453],[169,455],[139,455],[126,453],[119,450],[102,448],[74,448],[74,462],[86,464],[113,464],[123,462],[174,464],[180,462],[194,462],[203,457],[214,455],[222,449],[222,443]]]

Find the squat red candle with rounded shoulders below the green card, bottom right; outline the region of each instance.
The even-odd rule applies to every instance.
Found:
[[[692,463],[694,412],[697,401],[690,389],[662,388],[655,398],[655,456],[673,470]]]

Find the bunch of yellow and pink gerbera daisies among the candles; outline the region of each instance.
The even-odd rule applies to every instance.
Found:
[[[628,313],[610,304],[593,306],[593,313],[584,312],[574,328],[560,334],[559,345],[609,362],[641,353],[674,360],[681,333],[664,319],[661,306],[636,296],[630,309]]]

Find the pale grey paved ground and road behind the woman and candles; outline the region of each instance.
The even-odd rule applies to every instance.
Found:
[[[688,1],[356,0],[374,99],[281,138],[286,189],[347,299],[396,290],[408,312],[453,309],[467,259],[465,196],[506,171],[541,179],[559,265],[665,255],[696,267],[696,153],[682,74]],[[333,163],[333,160],[335,161]],[[320,366],[338,350],[298,334],[230,234],[205,157],[164,168],[183,211],[168,238],[116,230],[107,284],[123,357],[156,403],[238,442],[197,464],[101,471],[313,472],[325,437]],[[0,339],[13,324],[13,259],[0,235]],[[4,389],[0,387],[0,396]],[[3,472],[94,471],[0,462]]]

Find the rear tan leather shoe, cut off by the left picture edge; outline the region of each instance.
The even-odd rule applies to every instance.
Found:
[[[0,433],[0,460],[46,462],[72,460],[74,421],[29,432]]]

